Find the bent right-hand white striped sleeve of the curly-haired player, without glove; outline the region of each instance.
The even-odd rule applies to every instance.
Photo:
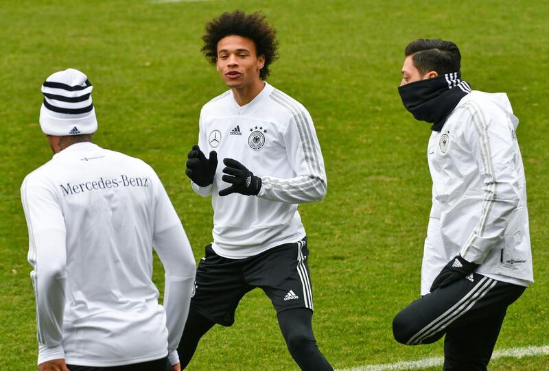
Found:
[[[288,162],[296,176],[288,179],[264,176],[257,197],[301,204],[320,201],[327,191],[324,159],[309,112],[299,110],[283,134]]]

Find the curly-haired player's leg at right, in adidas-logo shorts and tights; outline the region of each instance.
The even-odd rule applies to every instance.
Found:
[[[255,256],[244,268],[246,282],[261,287],[277,309],[290,354],[301,370],[333,370],[318,350],[312,331],[312,285],[307,239],[285,243]]]

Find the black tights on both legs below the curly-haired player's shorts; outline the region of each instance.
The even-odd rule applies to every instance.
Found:
[[[303,371],[333,371],[324,358],[314,339],[312,330],[312,311],[305,308],[288,309],[278,313],[280,330],[288,345],[294,361]],[[200,338],[215,323],[194,311],[191,307],[185,324],[183,337],[177,348],[183,370],[191,361]]]

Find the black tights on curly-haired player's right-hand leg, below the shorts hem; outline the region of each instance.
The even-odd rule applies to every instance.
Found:
[[[316,345],[312,315],[312,310],[305,308],[281,311],[277,314],[280,330],[290,355],[301,370],[332,371],[334,368],[330,366]]]

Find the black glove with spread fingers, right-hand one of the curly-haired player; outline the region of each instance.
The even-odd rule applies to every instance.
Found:
[[[261,189],[261,178],[259,176],[253,175],[244,165],[232,158],[225,158],[223,163],[226,166],[223,172],[229,175],[224,175],[222,180],[233,185],[219,191],[220,196],[230,195],[231,193],[250,196],[259,193]]]

